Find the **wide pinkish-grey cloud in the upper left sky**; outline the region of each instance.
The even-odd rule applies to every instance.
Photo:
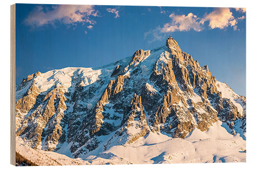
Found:
[[[37,6],[28,17],[24,20],[26,25],[32,27],[40,27],[52,24],[56,21],[65,24],[90,23],[95,24],[96,21],[89,16],[98,16],[92,5],[58,5],[53,6],[53,10],[46,10],[42,6]]]

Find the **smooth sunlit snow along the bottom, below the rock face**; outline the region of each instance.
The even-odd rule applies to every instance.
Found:
[[[19,137],[16,151],[39,165],[246,162],[246,141],[229,134],[224,124],[218,121],[205,132],[196,128],[185,139],[150,132],[133,144],[114,145],[104,152],[96,149],[83,159],[33,150]]]

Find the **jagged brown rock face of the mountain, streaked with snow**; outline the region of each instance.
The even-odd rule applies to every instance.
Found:
[[[184,138],[217,120],[243,136],[246,98],[218,82],[172,37],[100,69],[38,72],[16,88],[16,135],[32,148],[65,149],[75,158],[148,132]]]

